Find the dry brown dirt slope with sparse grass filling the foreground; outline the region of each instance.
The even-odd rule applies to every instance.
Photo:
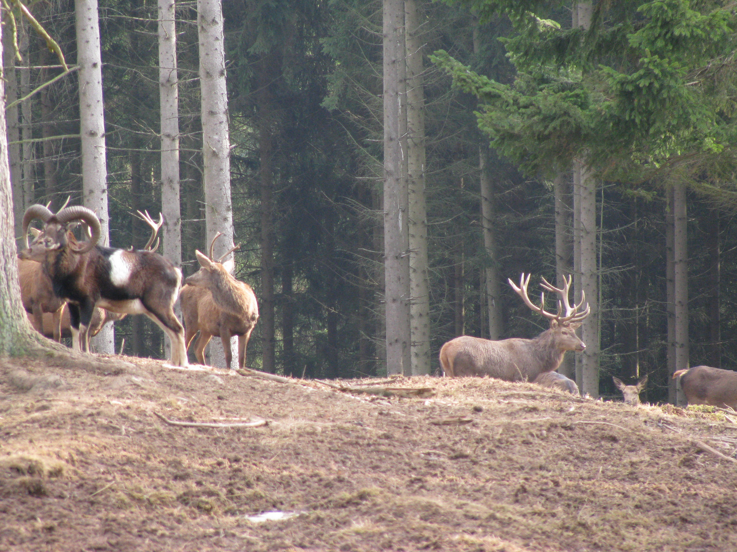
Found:
[[[367,397],[125,360],[0,360],[0,550],[737,551],[722,412],[481,378]]]

